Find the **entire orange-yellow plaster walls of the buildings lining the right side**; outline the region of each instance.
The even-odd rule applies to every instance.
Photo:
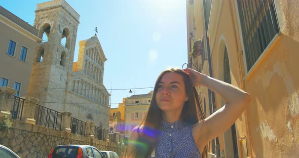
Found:
[[[195,15],[195,19],[199,19],[197,16],[203,11],[201,0],[195,1],[195,9],[186,2],[189,35],[193,29],[189,27],[193,25],[193,17],[189,17],[194,16],[191,12],[200,11]],[[216,11],[219,14],[213,14],[209,21],[213,25],[209,25],[209,29],[214,29],[208,31],[213,77],[223,81],[223,56],[227,47],[231,83],[251,95],[249,108],[236,121],[239,157],[299,156],[295,149],[299,141],[299,18],[296,17],[299,4],[283,0],[274,2],[281,33],[248,72],[236,1],[213,1],[213,5],[220,4]],[[213,9],[211,13],[215,13]],[[201,20],[195,21],[196,39],[204,34],[203,25],[199,25],[204,23]],[[200,57],[197,60],[204,65],[203,73],[209,75],[208,60],[201,63]],[[205,98],[208,116],[211,110],[208,89],[201,87],[200,92],[202,100]],[[224,104],[217,94],[215,104],[217,109]],[[232,157],[230,132],[219,136],[220,152],[226,157]],[[211,143],[208,146],[211,147]]]

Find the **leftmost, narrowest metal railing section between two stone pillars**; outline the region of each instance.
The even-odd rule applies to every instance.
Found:
[[[24,101],[25,101],[25,99],[14,96],[14,103],[11,108],[12,119],[15,119],[15,120],[22,119]]]

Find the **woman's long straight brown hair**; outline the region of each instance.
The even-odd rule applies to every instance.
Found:
[[[163,75],[168,72],[178,73],[183,77],[186,96],[189,99],[188,101],[185,101],[183,109],[181,111],[180,118],[182,119],[182,121],[187,125],[193,125],[205,119],[205,114],[203,113],[203,110],[201,108],[200,97],[196,89],[192,87],[189,75],[181,69],[171,68],[168,70],[164,70],[157,78],[152,101],[151,104],[149,104],[149,108],[147,110],[145,118],[137,128],[137,139],[132,140],[135,143],[131,143],[132,145],[130,145],[130,147],[128,146],[127,148],[126,154],[128,155],[128,157],[148,157],[154,150],[157,135],[161,130],[161,121],[163,120],[162,111],[157,105],[156,93]],[[202,153],[203,157],[207,156],[206,147],[204,148],[204,151]]]

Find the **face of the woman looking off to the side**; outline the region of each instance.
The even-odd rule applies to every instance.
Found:
[[[166,72],[158,83],[156,100],[162,111],[182,110],[184,102],[188,100],[182,75]]]

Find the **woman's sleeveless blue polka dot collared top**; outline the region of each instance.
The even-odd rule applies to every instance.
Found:
[[[157,137],[155,156],[201,158],[193,133],[192,125],[186,125],[181,119],[169,124],[162,122],[162,131]]]

